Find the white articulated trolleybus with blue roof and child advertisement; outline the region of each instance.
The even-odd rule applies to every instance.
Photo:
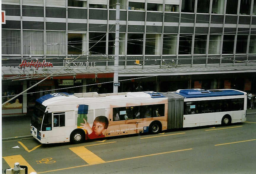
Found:
[[[245,92],[53,93],[36,100],[31,135],[40,143],[73,142],[134,133],[246,121]]]

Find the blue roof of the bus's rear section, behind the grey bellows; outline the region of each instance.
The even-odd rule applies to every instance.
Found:
[[[244,93],[232,89],[227,90],[204,90],[204,89],[181,89],[176,94],[184,96],[184,98],[200,98],[200,97],[219,97],[219,96],[239,96]]]

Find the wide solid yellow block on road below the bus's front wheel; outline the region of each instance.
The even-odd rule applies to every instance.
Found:
[[[100,157],[86,149],[84,146],[70,147],[69,149],[75,154],[77,154],[84,161],[86,161],[88,164],[100,164],[105,162]]]

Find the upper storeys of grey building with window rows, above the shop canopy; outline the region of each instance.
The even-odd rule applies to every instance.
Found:
[[[7,20],[6,24],[2,25],[2,56],[20,57],[26,54],[32,57],[64,58],[74,54],[104,57],[114,55],[116,0],[109,1],[109,10],[106,10],[104,3],[89,4],[89,1],[84,0],[67,2],[68,21],[65,20],[65,7],[47,6],[44,14],[43,6],[14,6],[23,8],[21,11],[26,18],[22,22]],[[176,4],[171,4],[172,2]],[[159,65],[161,61],[158,59],[169,59],[173,56],[181,58],[179,63],[186,64],[200,63],[196,59],[191,61],[193,58],[203,57],[197,54],[256,54],[253,28],[256,17],[252,16],[251,22],[251,16],[248,16],[256,14],[255,1],[253,4],[251,0],[165,1],[169,4],[164,7],[160,3],[120,1],[119,55],[126,57],[126,60],[134,59],[136,55],[138,59],[148,59],[144,60],[145,65]],[[3,4],[3,7],[12,8],[8,4]],[[39,12],[35,12],[37,7]],[[167,13],[161,12],[163,10]],[[7,10],[6,14],[12,16]],[[32,17],[39,17],[36,19],[40,20],[33,21],[35,18]],[[46,21],[45,25],[43,20]],[[21,27],[23,30],[20,30]],[[197,56],[189,57],[191,54]],[[153,62],[155,59],[156,62]],[[124,65],[133,63],[127,61]],[[217,59],[208,59],[207,63],[218,62]],[[108,65],[112,65],[111,61]]]

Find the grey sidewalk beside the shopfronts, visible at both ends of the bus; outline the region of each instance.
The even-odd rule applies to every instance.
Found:
[[[256,109],[247,109],[246,115],[256,114]],[[30,138],[31,116],[2,117],[2,141]]]

